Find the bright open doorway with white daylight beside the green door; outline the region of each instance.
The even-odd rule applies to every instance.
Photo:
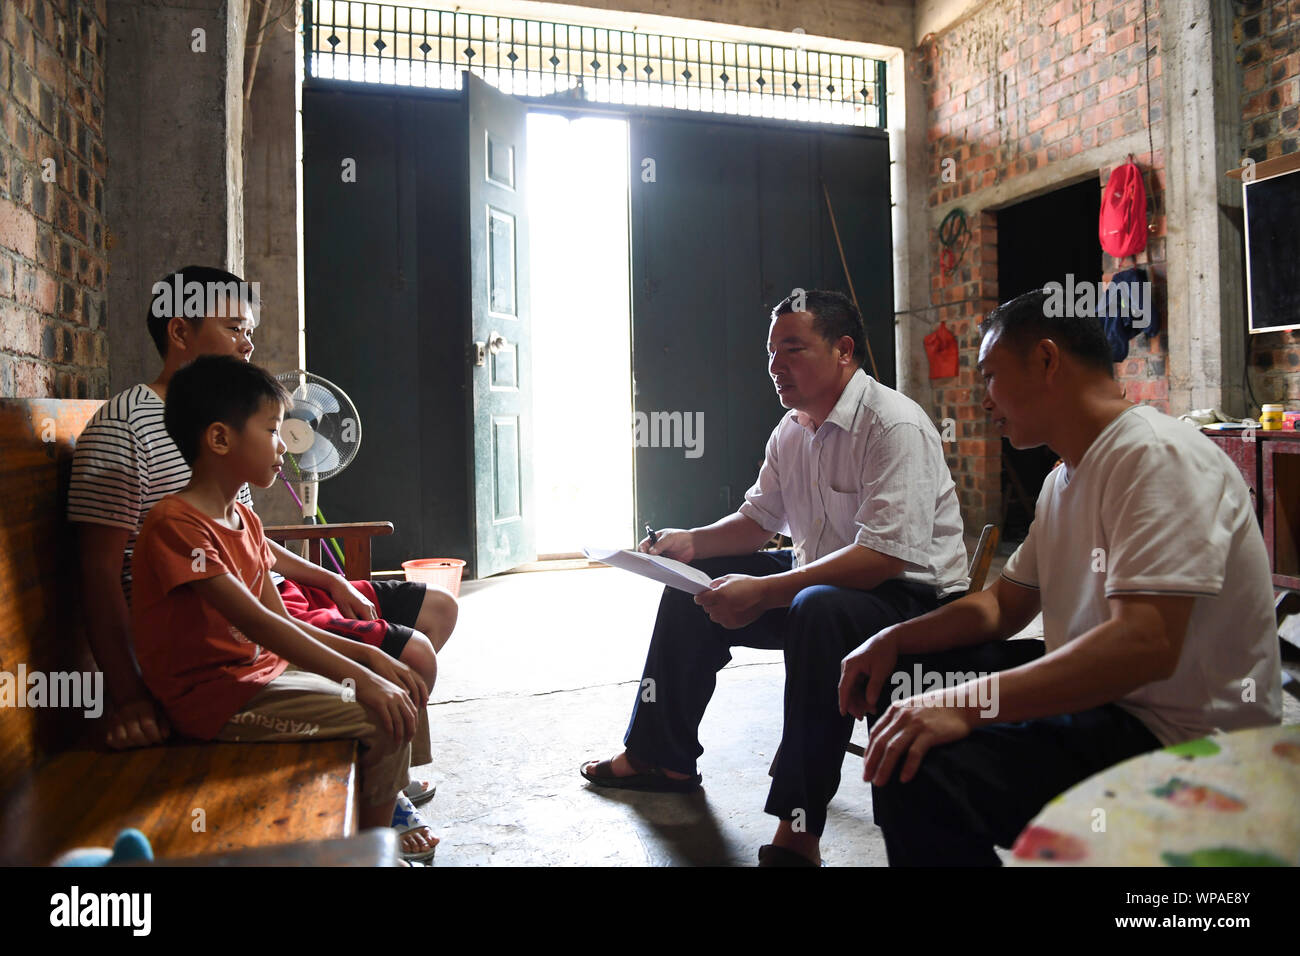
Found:
[[[528,114],[537,553],[636,540],[628,122]]]

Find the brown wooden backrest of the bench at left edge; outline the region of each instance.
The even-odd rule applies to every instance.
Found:
[[[0,671],[9,675],[94,670],[64,514],[75,438],[100,405],[0,399]],[[82,710],[0,708],[0,791],[84,730]]]

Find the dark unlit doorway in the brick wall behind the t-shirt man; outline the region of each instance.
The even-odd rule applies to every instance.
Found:
[[[1054,190],[997,213],[997,293],[1008,302],[1048,282],[1078,287],[1101,281],[1096,179]],[[1043,446],[1017,450],[1002,438],[1002,540],[1023,541],[1043,479],[1057,454]]]

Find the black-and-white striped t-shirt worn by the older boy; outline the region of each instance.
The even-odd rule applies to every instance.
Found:
[[[144,515],[190,483],[190,466],[162,424],[162,399],[136,385],[104,402],[77,440],[68,520],[127,532],[122,591],[131,597],[131,557]],[[238,501],[252,507],[248,485]]]

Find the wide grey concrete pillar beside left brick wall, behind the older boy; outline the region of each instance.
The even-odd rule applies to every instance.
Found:
[[[243,271],[243,42],[244,0],[108,5],[112,392],[157,373],[144,320],[160,276],[190,263]]]

